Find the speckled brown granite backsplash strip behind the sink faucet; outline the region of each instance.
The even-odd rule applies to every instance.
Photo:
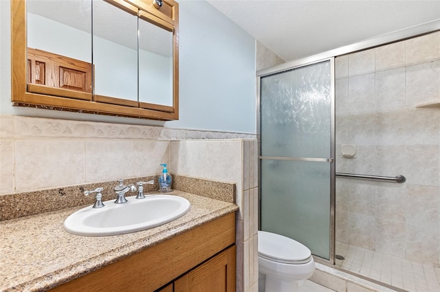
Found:
[[[158,175],[131,178],[124,180],[124,184],[136,184],[140,181],[154,180],[154,184],[144,185],[144,193],[152,193],[159,189],[157,182]],[[98,182],[93,184],[81,184],[63,188],[50,188],[41,191],[15,193],[0,196],[0,221],[36,215],[43,212],[51,212],[65,208],[94,204],[94,195],[85,197],[86,190],[94,190],[103,187],[102,201],[115,199],[113,187],[118,182]],[[211,199],[218,199],[223,202],[234,203],[235,184],[214,182],[199,178],[188,178],[181,175],[173,175],[172,188],[177,191],[194,193]],[[193,192],[194,191],[194,192]],[[134,194],[130,194],[134,195]]]

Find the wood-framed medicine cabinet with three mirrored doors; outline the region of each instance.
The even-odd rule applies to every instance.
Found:
[[[14,106],[178,119],[175,1],[11,2]]]

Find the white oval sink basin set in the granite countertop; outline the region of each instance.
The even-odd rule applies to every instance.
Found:
[[[190,202],[175,195],[146,195],[145,199],[126,197],[128,202],[104,202],[103,208],[88,206],[64,221],[67,232],[84,236],[117,235],[160,226],[190,210]]]

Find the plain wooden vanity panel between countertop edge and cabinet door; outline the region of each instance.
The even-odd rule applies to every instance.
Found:
[[[235,242],[230,213],[52,291],[154,291]]]

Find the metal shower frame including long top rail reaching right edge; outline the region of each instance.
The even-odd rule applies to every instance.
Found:
[[[322,53],[318,53],[313,56],[300,58],[298,60],[292,60],[290,62],[286,62],[284,64],[279,64],[276,66],[272,66],[267,69],[256,71],[256,132],[258,133],[258,153],[259,153],[259,186],[261,186],[261,129],[260,129],[260,86],[261,86],[261,77],[267,76],[267,75],[273,75],[276,73],[282,73],[284,71],[288,71],[291,69],[296,69],[298,67],[307,66],[309,64],[315,64],[318,62],[322,62],[325,60],[332,59],[332,72],[331,72],[331,95],[332,95],[332,112],[331,112],[331,119],[332,119],[332,133],[331,133],[331,155],[333,158],[335,158],[335,126],[334,126],[334,120],[335,120],[335,71],[334,71],[334,59],[336,57],[340,57],[349,53],[354,53],[356,51],[364,51],[366,49],[371,49],[374,47],[379,47],[382,45],[391,44],[393,42],[398,42],[400,40],[405,40],[407,38],[414,38],[416,36],[421,36],[423,34],[430,34],[432,32],[440,31],[440,20],[437,21],[430,21],[428,23],[424,23],[422,25],[417,25],[415,27],[409,27],[407,29],[402,29],[397,32],[393,32],[391,34],[385,34],[383,36],[377,36],[375,38],[370,38],[369,40],[364,40],[362,42],[356,42],[352,45],[347,45],[344,47],[339,47],[337,49],[332,49],[329,51],[325,51]],[[325,258],[320,258],[318,256],[314,256],[315,260],[318,263],[324,263],[326,265],[332,265],[334,267],[335,263],[335,212],[336,212],[336,171],[335,171],[335,161],[331,162],[331,228],[330,228],[330,260],[327,260]],[[261,188],[259,188],[259,229],[261,229]],[[345,269],[342,269],[345,271]]]

